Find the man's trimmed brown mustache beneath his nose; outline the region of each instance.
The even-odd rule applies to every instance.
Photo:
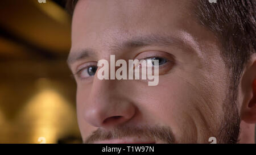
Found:
[[[163,141],[164,143],[174,143],[174,134],[170,127],[163,127],[155,125],[154,127],[115,127],[110,131],[98,128],[92,132],[92,135],[88,136],[83,143],[91,144],[96,141],[121,139],[123,137],[142,137],[145,139],[154,139]]]

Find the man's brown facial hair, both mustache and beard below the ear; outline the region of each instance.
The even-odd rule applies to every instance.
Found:
[[[240,135],[240,115],[238,110],[238,89],[236,83],[229,87],[228,94],[222,104],[223,117],[220,128],[217,131],[216,140],[218,144],[238,143]],[[155,125],[154,127],[126,127],[125,125],[115,127],[111,131],[98,128],[83,143],[95,143],[101,140],[121,139],[124,137],[144,137],[146,139],[160,140],[164,143],[175,143],[175,136],[170,127]]]

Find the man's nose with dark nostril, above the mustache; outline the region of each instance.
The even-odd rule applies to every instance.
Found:
[[[112,128],[133,118],[135,106],[129,101],[121,83],[94,77],[88,102],[85,103],[86,122],[94,127]]]

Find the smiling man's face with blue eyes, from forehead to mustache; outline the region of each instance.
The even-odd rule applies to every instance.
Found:
[[[77,3],[70,56],[79,59],[69,65],[76,74],[77,118],[84,141],[221,141],[229,78],[220,43],[197,23],[193,2]],[[158,85],[98,79],[97,61],[110,61],[110,55],[115,60],[160,58]]]

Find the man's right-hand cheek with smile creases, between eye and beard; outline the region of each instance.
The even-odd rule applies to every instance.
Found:
[[[213,117],[218,109],[212,102],[214,96],[207,96],[203,85],[190,80],[160,77],[158,86],[137,85],[140,89],[130,94],[143,118],[151,125],[171,127],[179,143],[207,141],[216,132],[219,120]]]

